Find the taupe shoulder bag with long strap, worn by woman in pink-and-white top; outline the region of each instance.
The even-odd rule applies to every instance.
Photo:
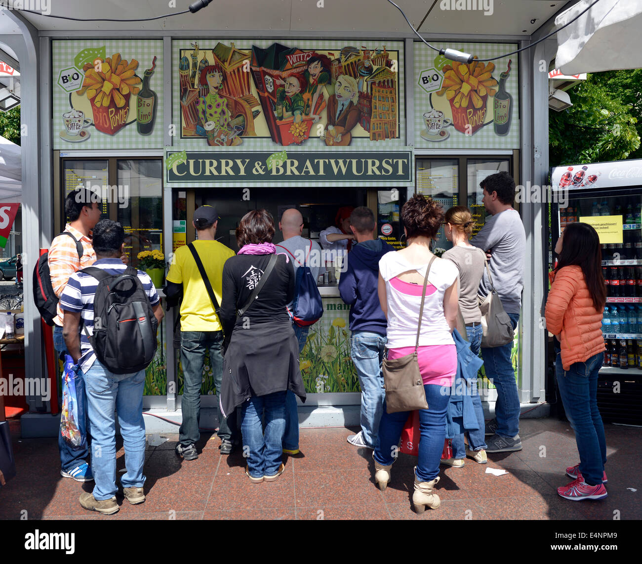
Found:
[[[399,411],[413,411],[415,409],[428,409],[424,381],[419,371],[419,333],[421,331],[421,318],[424,315],[424,300],[426,299],[426,286],[428,285],[428,273],[435,260],[430,259],[424,278],[424,289],[421,292],[421,308],[419,308],[419,324],[417,324],[417,342],[412,355],[395,358],[394,360],[383,360],[383,387],[386,390],[386,411],[396,413]]]

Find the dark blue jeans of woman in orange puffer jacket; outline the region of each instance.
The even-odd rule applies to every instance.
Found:
[[[555,375],[564,410],[575,431],[577,450],[580,453],[580,472],[587,484],[602,484],[606,463],[604,425],[598,409],[598,372],[604,353],[575,362],[569,370],[562,367],[562,355],[557,353]]]

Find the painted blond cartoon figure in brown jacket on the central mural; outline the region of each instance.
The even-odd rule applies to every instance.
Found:
[[[351,131],[361,117],[358,98],[357,81],[352,76],[338,76],[334,94],[327,101],[325,145],[350,145]]]

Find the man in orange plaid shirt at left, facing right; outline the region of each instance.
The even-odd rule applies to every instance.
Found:
[[[49,248],[48,263],[51,275],[51,286],[56,296],[60,298],[65,289],[69,276],[76,270],[90,267],[96,261],[96,252],[91,244],[91,230],[100,220],[101,200],[87,188],[76,188],[65,198],[65,215],[69,223],[65,231],[73,235],[56,236]],[[76,242],[82,245],[82,255]],[[121,256],[123,263],[128,262],[125,255]],[[58,354],[67,353],[67,346],[62,337],[63,312],[60,303],[57,305],[58,315],[53,320],[53,346]],[[78,420],[80,432],[87,434],[85,384],[82,373],[78,371],[75,376],[76,394],[78,395]],[[87,446],[73,449],[68,445],[62,435],[58,434],[58,449],[60,450],[60,475],[64,478],[73,478],[76,482],[89,482],[94,479],[91,467],[87,464],[89,454]]]

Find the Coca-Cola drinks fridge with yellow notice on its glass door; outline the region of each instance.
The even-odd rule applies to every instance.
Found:
[[[642,160],[552,168],[550,204],[549,270],[566,225],[583,221],[600,235],[607,349],[598,406],[604,421],[642,425]]]

